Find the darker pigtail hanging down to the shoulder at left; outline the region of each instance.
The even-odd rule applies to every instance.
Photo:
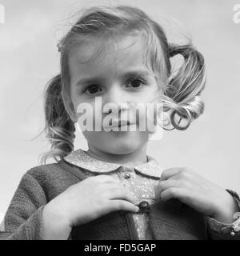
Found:
[[[67,114],[62,100],[60,74],[52,78],[45,92],[45,132],[51,144],[51,150],[42,154],[41,164],[47,158],[62,159],[74,150],[75,126]]]

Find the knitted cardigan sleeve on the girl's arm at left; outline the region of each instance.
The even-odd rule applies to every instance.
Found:
[[[0,240],[41,240],[46,203],[42,186],[30,174],[24,174],[6,210]]]

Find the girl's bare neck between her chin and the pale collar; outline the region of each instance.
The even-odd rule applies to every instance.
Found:
[[[147,162],[146,146],[147,144],[130,154],[110,154],[89,145],[89,150],[86,151],[86,154],[102,162],[113,162],[127,166],[135,166]]]

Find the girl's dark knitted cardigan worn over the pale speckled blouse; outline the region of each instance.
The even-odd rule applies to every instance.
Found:
[[[42,239],[44,206],[69,186],[87,178],[83,174],[80,167],[65,161],[28,170],[6,211],[0,239]],[[150,231],[157,240],[240,239],[240,232],[231,237],[227,226],[224,232],[209,230],[206,216],[177,199],[156,201],[145,210],[149,214]],[[75,226],[69,239],[130,240],[138,239],[138,233],[131,213],[120,210]]]

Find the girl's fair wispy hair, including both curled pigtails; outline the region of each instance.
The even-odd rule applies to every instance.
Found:
[[[142,32],[146,43],[145,61],[158,77],[164,93],[164,110],[170,113],[173,129],[186,130],[193,119],[203,113],[204,103],[199,95],[206,84],[202,54],[192,42],[184,46],[169,43],[162,26],[134,6],[94,6],[82,9],[82,14],[70,31],[58,43],[61,53],[61,73],[50,80],[45,92],[46,138],[51,150],[44,153],[41,163],[53,157],[57,162],[74,150],[74,106],[70,99],[68,56],[74,46],[86,38],[110,37],[113,34]],[[172,77],[170,58],[182,55],[184,62]],[[176,122],[175,117],[180,118]],[[186,126],[180,126],[182,119]],[[58,158],[57,158],[58,157]]]

